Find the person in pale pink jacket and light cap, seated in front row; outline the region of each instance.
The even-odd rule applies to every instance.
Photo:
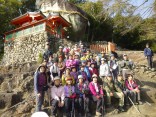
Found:
[[[60,85],[60,77],[54,78],[54,86],[51,88],[51,99],[52,99],[52,116],[55,117],[57,110],[62,110],[64,106],[64,87]]]

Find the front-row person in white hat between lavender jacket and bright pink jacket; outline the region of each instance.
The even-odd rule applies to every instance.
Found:
[[[89,95],[89,87],[87,83],[84,82],[85,78],[83,78],[82,75],[78,76],[78,83],[75,85],[75,92],[78,96],[75,100],[77,109],[78,109],[78,115],[79,117],[82,117],[82,112],[84,111],[84,103],[85,103],[85,110],[87,117],[91,116],[89,111],[89,104],[90,104],[90,95]]]

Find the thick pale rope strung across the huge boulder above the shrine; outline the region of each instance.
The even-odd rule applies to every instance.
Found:
[[[84,15],[82,15],[80,12],[77,12],[77,11],[66,11],[66,10],[47,10],[43,13],[47,13],[47,12],[59,12],[59,13],[69,13],[69,14],[78,14],[80,15],[81,17],[83,17],[84,19],[88,20],[87,17],[85,17]]]

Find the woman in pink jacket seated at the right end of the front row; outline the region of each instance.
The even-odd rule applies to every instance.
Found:
[[[125,81],[126,88],[133,94],[134,104],[142,104],[140,99],[140,89],[138,84],[134,81],[133,75],[128,74],[127,80]]]

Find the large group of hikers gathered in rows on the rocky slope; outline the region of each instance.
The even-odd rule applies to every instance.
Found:
[[[65,109],[67,117],[73,116],[75,110],[79,117],[83,112],[89,117],[91,102],[96,102],[96,115],[101,116],[105,106],[112,106],[112,97],[119,99],[120,112],[124,112],[131,101],[142,104],[139,85],[131,74],[133,62],[126,54],[123,60],[117,57],[115,52],[109,56],[104,52],[92,53],[82,43],[72,48],[60,46],[58,52],[52,54],[47,43],[44,61],[34,76],[36,111],[41,111],[45,91],[49,89],[54,117],[58,109]]]

